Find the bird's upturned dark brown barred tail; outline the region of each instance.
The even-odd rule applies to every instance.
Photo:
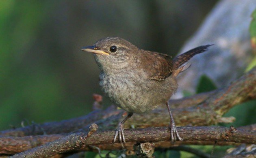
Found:
[[[178,73],[181,73],[184,70],[187,70],[191,64],[186,64],[193,56],[199,53],[203,53],[210,47],[211,45],[202,45],[199,47],[196,47],[194,49],[191,49],[173,59],[174,63],[174,74],[175,76],[178,75]]]

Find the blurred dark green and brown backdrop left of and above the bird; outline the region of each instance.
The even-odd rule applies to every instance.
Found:
[[[81,47],[119,36],[175,56],[216,1],[0,1],[0,130],[89,113],[100,71]]]

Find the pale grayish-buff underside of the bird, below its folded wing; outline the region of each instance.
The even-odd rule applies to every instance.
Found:
[[[138,78],[135,81],[129,77],[100,74],[100,87],[104,94],[115,105],[131,113],[150,111],[163,105],[171,96],[171,92],[161,90],[162,86],[159,84],[153,86],[152,90],[150,81]],[[159,96],[159,93],[163,94]]]

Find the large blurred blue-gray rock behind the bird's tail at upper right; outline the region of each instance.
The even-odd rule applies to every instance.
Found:
[[[241,76],[253,56],[249,24],[254,9],[256,0],[221,0],[217,3],[180,53],[200,45],[215,45],[190,60],[189,70],[178,76],[179,89],[174,98],[182,97],[183,90],[195,92],[203,74],[218,88]]]

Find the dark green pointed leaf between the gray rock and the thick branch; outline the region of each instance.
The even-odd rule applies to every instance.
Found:
[[[202,75],[197,84],[196,93],[209,92],[216,89],[215,83],[206,75]]]

